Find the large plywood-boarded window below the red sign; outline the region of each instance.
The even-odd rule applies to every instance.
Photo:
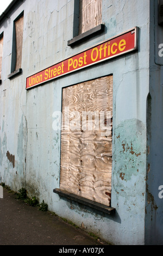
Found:
[[[112,76],[62,90],[60,188],[110,206]]]

